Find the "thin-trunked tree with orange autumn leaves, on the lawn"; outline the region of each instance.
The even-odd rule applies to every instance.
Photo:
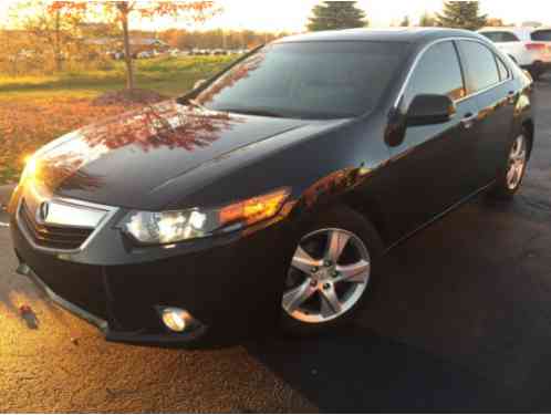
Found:
[[[135,86],[134,65],[131,49],[129,22],[132,17],[154,19],[159,17],[187,17],[195,21],[202,21],[216,12],[212,1],[53,1],[50,12],[62,11],[71,14],[77,10],[97,12],[97,15],[110,23],[121,25],[124,45],[124,56],[126,63],[126,89],[132,91]]]

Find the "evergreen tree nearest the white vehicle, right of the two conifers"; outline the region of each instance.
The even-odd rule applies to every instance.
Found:
[[[487,14],[480,14],[478,1],[445,1],[443,13],[436,13],[438,25],[478,30],[486,25]]]

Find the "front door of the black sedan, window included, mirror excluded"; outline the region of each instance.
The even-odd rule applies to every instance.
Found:
[[[453,41],[429,46],[407,81],[398,111],[406,114],[419,94],[448,95],[457,105],[447,123],[409,126],[403,142],[389,147],[393,180],[388,200],[393,206],[394,236],[401,237],[432,220],[474,189],[471,175],[476,102],[466,98],[462,70]]]

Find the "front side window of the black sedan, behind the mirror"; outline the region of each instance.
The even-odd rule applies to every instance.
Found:
[[[465,96],[461,68],[451,42],[437,43],[420,58],[407,84],[404,105],[419,94],[448,95],[457,101]]]

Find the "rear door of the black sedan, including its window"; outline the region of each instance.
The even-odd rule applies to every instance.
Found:
[[[476,163],[477,187],[493,180],[502,167],[513,122],[516,93],[511,71],[487,45],[457,42],[464,62],[467,93],[479,107]]]

